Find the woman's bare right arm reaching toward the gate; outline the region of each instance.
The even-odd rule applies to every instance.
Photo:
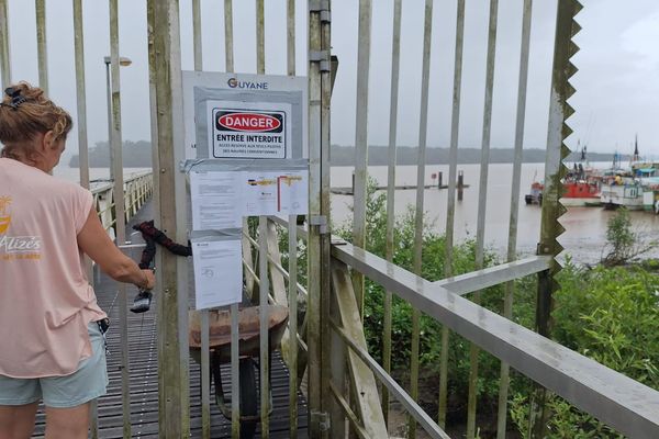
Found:
[[[78,234],[78,247],[115,281],[132,283],[146,290],[153,289],[156,284],[152,270],[139,269],[135,261],[116,248],[103,229],[93,207]]]

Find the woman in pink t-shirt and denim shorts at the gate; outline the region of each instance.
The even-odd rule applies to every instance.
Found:
[[[70,115],[25,82],[0,103],[0,439],[29,438],[40,401],[47,438],[87,438],[105,394],[105,349],[82,254],[120,282],[153,289],[110,240],[91,193],[49,175]]]

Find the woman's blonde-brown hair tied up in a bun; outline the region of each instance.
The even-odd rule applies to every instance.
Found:
[[[0,103],[0,143],[4,145],[0,156],[29,157],[35,153],[32,140],[40,134],[52,131],[55,140],[66,139],[72,126],[69,113],[42,89],[24,81],[15,83]]]

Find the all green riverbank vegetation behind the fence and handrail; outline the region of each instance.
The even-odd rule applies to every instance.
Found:
[[[367,250],[384,257],[387,245],[387,198],[377,192],[372,181],[367,198]],[[612,246],[619,255],[630,255],[628,213],[621,211],[610,224]],[[395,218],[393,262],[412,270],[414,255],[414,211],[409,209]],[[346,240],[351,240],[351,223],[334,229]],[[616,241],[617,244],[613,244]],[[428,281],[444,278],[446,241],[433,232],[433,223],[424,218],[422,277]],[[453,272],[456,274],[476,269],[476,244],[467,241],[455,246]],[[489,252],[485,266],[499,261]],[[629,378],[659,389],[659,274],[638,267],[588,270],[574,266],[568,258],[558,280],[561,289],[555,294],[554,337],[559,344],[593,360],[619,371]],[[535,323],[537,277],[515,281],[513,320],[527,328]],[[369,352],[381,362],[384,291],[367,280],[365,283],[364,327]],[[483,292],[481,304],[496,313],[503,307],[503,285]],[[438,394],[442,325],[434,318],[421,318],[421,374],[427,397],[422,393],[422,405],[428,413],[436,410]],[[392,368],[393,374],[406,380],[410,369],[412,338],[412,307],[394,295],[392,305]],[[470,344],[451,335],[449,345],[449,421],[451,412],[467,405]],[[499,393],[500,362],[481,351],[479,358],[479,415],[495,413]],[[405,381],[406,382],[406,381]],[[518,431],[528,428],[527,396],[532,392],[528,379],[511,371],[512,397],[510,416]],[[556,395],[549,395],[548,407],[552,414],[547,438],[618,438],[619,435],[591,416],[578,410]],[[483,435],[487,437],[487,434]]]

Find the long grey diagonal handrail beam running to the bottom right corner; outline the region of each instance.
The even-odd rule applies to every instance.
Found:
[[[619,432],[659,437],[659,392],[350,244],[332,256]]]

